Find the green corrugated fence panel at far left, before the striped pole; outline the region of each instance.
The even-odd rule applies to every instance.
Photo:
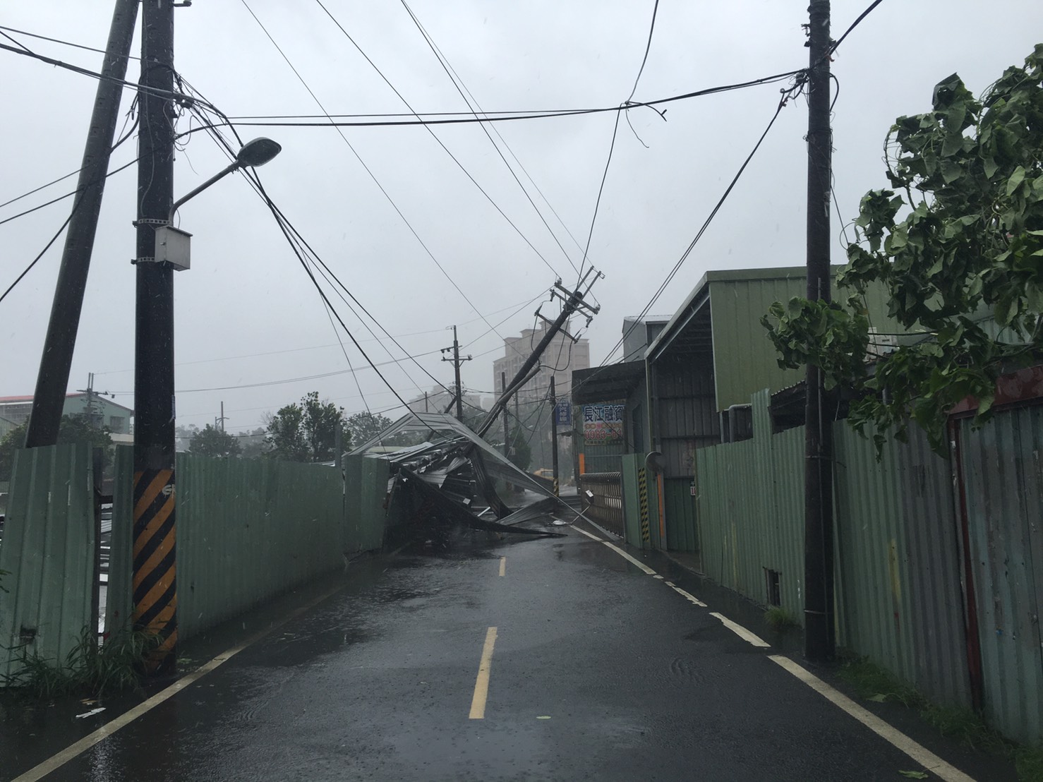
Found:
[[[84,628],[94,632],[95,519],[91,446],[17,450],[0,544],[0,675],[25,642],[64,660]],[[13,665],[14,664],[14,665]]]

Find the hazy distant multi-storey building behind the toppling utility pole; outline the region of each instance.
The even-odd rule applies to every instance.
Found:
[[[532,355],[533,348],[547,335],[547,325],[540,328],[526,328],[520,337],[507,337],[504,340],[504,356],[492,362],[492,389],[499,395],[503,390],[502,375],[507,383],[514,378],[526,359]],[[573,370],[587,369],[590,366],[590,345],[583,338],[575,343],[562,332],[554,335],[539,359],[542,365],[539,372],[522,387],[518,392],[519,401],[539,401],[547,397],[554,377],[554,390],[558,397],[567,397],[572,390]]]

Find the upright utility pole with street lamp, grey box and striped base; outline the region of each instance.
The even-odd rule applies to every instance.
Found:
[[[146,667],[176,666],[174,535],[174,271],[156,263],[155,228],[173,203],[174,3],[142,3],[135,320],[134,625],[159,646]]]

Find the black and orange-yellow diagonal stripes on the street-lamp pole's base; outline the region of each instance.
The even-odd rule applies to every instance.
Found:
[[[134,476],[134,626],[155,633],[160,644],[146,661],[149,674],[174,670],[177,581],[174,565],[174,471]]]

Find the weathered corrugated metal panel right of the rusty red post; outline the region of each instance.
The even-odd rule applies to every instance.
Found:
[[[984,706],[1022,741],[1043,739],[1043,406],[960,422]]]

